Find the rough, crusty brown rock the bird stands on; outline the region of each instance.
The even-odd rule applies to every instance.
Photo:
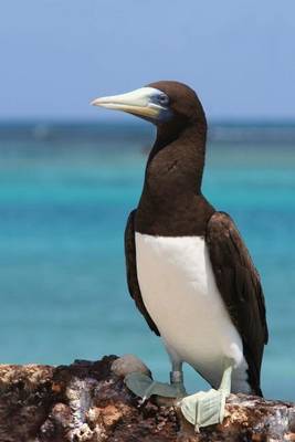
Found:
[[[295,441],[295,404],[243,394],[196,434],[177,408],[140,404],[114,360],[0,366],[0,442]]]

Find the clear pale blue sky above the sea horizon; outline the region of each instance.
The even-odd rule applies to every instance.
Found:
[[[0,11],[2,120],[95,119],[92,98],[158,80],[192,86],[210,118],[295,119],[294,0],[9,0]]]

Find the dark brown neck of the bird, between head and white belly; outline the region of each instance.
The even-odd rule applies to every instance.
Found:
[[[213,211],[201,194],[206,135],[206,123],[178,122],[158,128],[137,210],[137,231],[204,234]]]

